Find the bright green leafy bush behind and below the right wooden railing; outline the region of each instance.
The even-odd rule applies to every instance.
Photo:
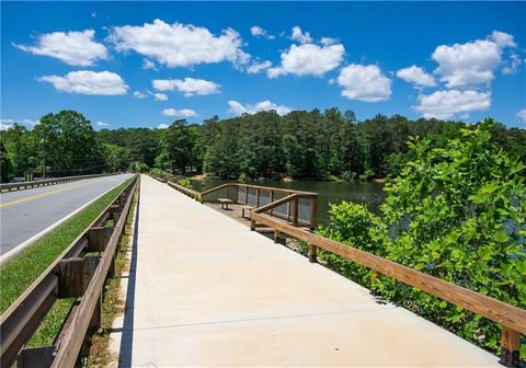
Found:
[[[412,160],[387,186],[384,217],[354,204],[333,205],[331,223],[320,233],[525,308],[525,165],[492,142],[493,128],[487,119],[462,129],[445,148],[433,148],[430,139],[412,140]],[[366,268],[324,257],[329,266],[370,286]],[[388,277],[371,287],[483,347],[500,345],[500,326],[480,315]]]

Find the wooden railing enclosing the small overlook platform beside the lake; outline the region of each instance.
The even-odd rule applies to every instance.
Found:
[[[252,212],[265,212],[271,217],[286,220],[294,227],[311,228],[318,226],[318,193],[294,191],[271,186],[242,183],[227,183],[201,193],[202,202],[216,202],[222,197],[239,205],[252,207]],[[251,228],[258,223],[252,220]]]

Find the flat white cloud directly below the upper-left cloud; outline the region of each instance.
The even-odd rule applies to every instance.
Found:
[[[44,76],[38,81],[49,82],[56,90],[67,93],[117,95],[128,90],[121,76],[111,71],[78,70],[64,77]]]

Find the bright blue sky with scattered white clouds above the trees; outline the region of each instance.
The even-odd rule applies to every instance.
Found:
[[[525,2],[2,2],[1,123],[274,108],[526,127]]]

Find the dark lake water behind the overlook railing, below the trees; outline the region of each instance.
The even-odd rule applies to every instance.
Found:
[[[225,183],[232,183],[220,179],[207,179],[205,181],[192,181],[194,189],[204,192]],[[318,193],[318,220],[320,223],[327,223],[329,216],[327,214],[329,204],[340,203],[342,200],[364,204],[367,208],[379,214],[379,206],[384,203],[386,195],[382,191],[384,184],[379,183],[334,183],[318,181],[298,181],[285,183],[281,181],[249,182],[248,184],[273,186],[287,189],[297,189]]]

